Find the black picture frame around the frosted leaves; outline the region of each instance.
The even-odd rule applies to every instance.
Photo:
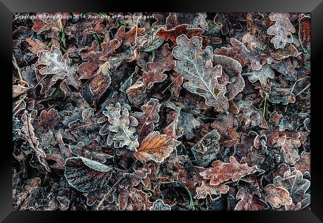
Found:
[[[155,3],[155,4],[154,4]],[[156,3],[161,3],[157,5]],[[177,0],[161,2],[153,1],[107,1],[107,0],[0,0],[0,57],[3,65],[1,78],[4,78],[2,86],[7,88],[8,95],[11,94],[10,73],[11,73],[11,45],[12,45],[12,12],[72,12],[72,11],[149,11],[149,12],[311,12],[311,30],[312,30],[312,75],[311,75],[311,116],[312,116],[312,129],[320,127],[320,123],[317,121],[320,119],[320,86],[322,83],[320,76],[322,76],[322,69],[320,68],[320,56],[323,50],[322,37],[323,37],[323,0]],[[4,91],[4,89],[2,89]],[[10,101],[10,96],[4,94],[3,99]],[[316,103],[316,99],[318,103]],[[5,100],[4,100],[5,101]],[[11,102],[2,102],[10,107]],[[3,111],[9,111],[4,109]],[[6,112],[4,112],[6,113]],[[317,118],[315,118],[318,116]],[[277,212],[277,211],[259,211],[259,212],[167,212],[166,217],[159,218],[164,213],[142,213],[142,212],[27,212],[27,211],[12,211],[12,159],[10,152],[10,125],[11,119],[9,116],[6,118],[3,116],[2,126],[2,146],[1,148],[1,179],[0,179],[0,220],[5,223],[13,222],[59,222],[67,221],[67,217],[74,218],[74,222],[82,221],[101,221],[95,220],[99,215],[100,218],[108,221],[107,216],[118,215],[120,218],[124,218],[126,214],[130,214],[131,218],[135,218],[134,215],[147,215],[157,220],[166,221],[172,220],[173,215],[180,215],[181,221],[186,221],[192,216],[198,215],[199,218],[205,218],[205,221],[220,221],[220,218],[227,218],[231,221],[249,222],[249,223],[266,223],[266,222],[283,222],[283,223],[319,223],[323,221],[323,181],[321,177],[322,165],[320,164],[321,156],[319,146],[320,134],[322,131],[311,132],[311,211],[293,211],[293,212]],[[8,145],[7,145],[8,144]],[[203,215],[203,216],[202,216]],[[207,216],[206,216],[207,215]],[[133,217],[132,217],[133,216]],[[221,216],[221,217],[220,217]],[[210,220],[207,220],[210,219]],[[121,220],[121,219],[120,219]],[[119,220],[119,221],[120,221]],[[200,219],[201,220],[201,219]],[[122,221],[122,220],[121,220]],[[138,219],[143,221],[143,219]],[[149,220],[147,220],[149,221]],[[150,220],[153,221],[153,220]]]

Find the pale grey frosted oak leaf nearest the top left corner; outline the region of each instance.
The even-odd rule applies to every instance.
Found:
[[[38,62],[45,65],[39,70],[41,74],[54,74],[52,81],[56,82],[59,79],[64,79],[66,84],[72,85],[76,89],[81,88],[81,81],[76,75],[78,65],[71,66],[68,54],[62,56],[60,49],[53,45],[50,52],[42,50],[37,53],[37,56],[39,57]]]

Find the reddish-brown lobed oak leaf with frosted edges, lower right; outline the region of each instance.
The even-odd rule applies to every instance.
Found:
[[[219,185],[220,183],[229,179],[232,179],[232,181],[238,181],[243,176],[257,171],[256,166],[248,167],[245,164],[239,164],[234,157],[230,157],[230,163],[214,161],[212,166],[213,167],[210,167],[200,173],[204,179],[211,179],[211,185]]]

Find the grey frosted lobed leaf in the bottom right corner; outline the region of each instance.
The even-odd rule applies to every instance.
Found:
[[[286,171],[284,178],[281,176],[275,177],[274,185],[288,190],[295,205],[301,202],[302,208],[305,208],[311,203],[311,194],[306,193],[310,187],[310,181],[304,179],[302,172],[299,170]]]

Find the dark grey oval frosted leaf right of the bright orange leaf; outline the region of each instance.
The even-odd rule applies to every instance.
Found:
[[[192,152],[199,167],[206,167],[215,159],[219,152],[219,139],[220,134],[213,129],[192,147]]]

